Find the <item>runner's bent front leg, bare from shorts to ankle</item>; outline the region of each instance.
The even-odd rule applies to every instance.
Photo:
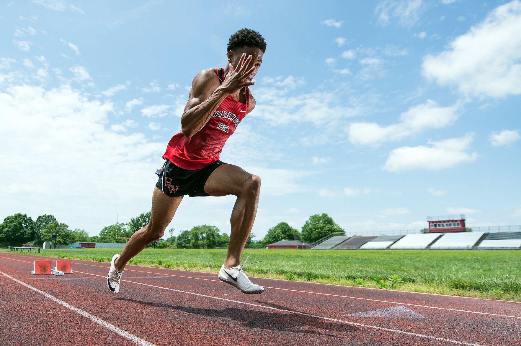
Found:
[[[235,195],[237,201],[231,213],[231,234],[225,268],[237,267],[257,214],[261,178],[242,168],[225,164],[218,167],[206,180],[204,191],[210,196]]]

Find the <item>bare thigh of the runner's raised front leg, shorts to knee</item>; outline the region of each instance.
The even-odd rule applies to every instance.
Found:
[[[252,174],[239,166],[225,164],[218,167],[206,180],[204,191],[210,196],[238,196]]]

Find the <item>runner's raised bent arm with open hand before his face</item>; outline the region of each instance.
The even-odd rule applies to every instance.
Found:
[[[217,75],[211,70],[201,71],[195,76],[188,103],[181,116],[181,131],[184,136],[190,138],[199,132],[228,95],[244,86],[255,84],[254,82],[244,82],[244,78],[255,69],[253,66],[245,71],[252,56],[247,59],[245,57],[246,55],[243,54],[235,69],[229,64],[227,78],[220,86]]]

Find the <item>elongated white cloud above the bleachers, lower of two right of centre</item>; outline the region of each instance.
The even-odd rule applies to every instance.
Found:
[[[461,138],[450,138],[441,141],[429,141],[430,146],[401,147],[389,153],[383,169],[399,172],[411,169],[441,170],[464,162],[473,162],[477,153],[465,152],[473,135]]]

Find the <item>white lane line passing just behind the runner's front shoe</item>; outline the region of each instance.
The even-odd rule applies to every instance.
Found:
[[[0,256],[1,257],[1,256]],[[7,257],[4,257],[6,259],[10,259]],[[15,260],[15,259],[13,259]],[[27,261],[20,261],[15,260],[19,262],[26,262],[31,263]],[[81,263],[81,262],[73,262],[75,264],[80,265],[89,265],[90,267],[98,267],[98,268],[105,268],[108,269],[109,267],[106,267],[104,265],[96,265],[96,264],[88,264],[88,263]],[[212,280],[212,279],[206,279],[202,277],[194,277],[194,276],[183,276],[183,275],[175,275],[175,274],[166,274],[166,273],[157,273],[157,272],[148,272],[144,270],[135,270],[135,269],[125,269],[126,271],[132,271],[132,272],[138,272],[138,273],[147,273],[147,274],[156,274],[156,275],[168,275],[168,276],[175,276],[175,277],[184,277],[184,278],[191,278],[194,280],[205,280],[205,281],[213,281],[213,282],[219,282],[218,280]],[[352,296],[342,296],[342,295],[334,295],[329,293],[320,293],[320,292],[311,292],[311,291],[302,291],[302,290],[296,290],[296,289],[289,289],[289,288],[280,288],[280,287],[270,287],[270,286],[264,286],[266,288],[271,289],[278,289],[282,291],[292,291],[292,292],[301,292],[301,293],[309,293],[313,295],[321,295],[321,296],[330,296],[330,297],[339,297],[339,298],[348,298],[348,299],[358,299],[358,300],[368,300],[368,301],[376,301],[380,303],[390,303],[390,304],[397,304],[397,305],[409,305],[411,307],[419,307],[419,308],[427,308],[427,309],[437,309],[437,310],[446,310],[446,311],[457,311],[457,312],[465,312],[465,313],[471,313],[471,314],[479,314],[479,315],[489,315],[489,316],[499,316],[499,317],[510,317],[510,318],[518,318],[521,319],[521,316],[513,316],[513,315],[502,315],[502,314],[493,314],[490,312],[480,312],[480,311],[472,311],[472,310],[459,310],[459,309],[450,309],[450,308],[440,308],[440,307],[431,307],[430,305],[420,305],[420,304],[412,304],[412,303],[402,303],[402,302],[396,302],[396,301],[389,301],[389,300],[379,300],[379,299],[371,299],[371,298],[362,298],[362,297],[352,297]],[[406,292],[410,293],[410,292]],[[443,295],[441,295],[443,296]],[[461,297],[464,298],[464,297]],[[501,301],[501,300],[500,300]],[[503,301],[501,301],[503,302]],[[517,302],[514,302],[517,303]]]

